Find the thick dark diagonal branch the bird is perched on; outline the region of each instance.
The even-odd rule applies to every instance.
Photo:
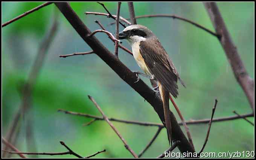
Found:
[[[81,38],[91,47],[91,49],[98,55],[108,66],[113,69],[120,78],[123,79],[127,84],[129,84],[135,91],[137,91],[149,104],[152,105],[154,110],[157,112],[162,122],[165,122],[163,114],[163,103],[162,100],[156,95],[156,93],[148,87],[142,80],[139,80],[137,83],[137,76],[135,73],[131,72],[119,59],[117,59],[98,39],[94,36],[88,37],[88,34],[91,34],[91,31],[85,26],[81,21],[78,15],[73,11],[68,3],[55,2],[55,5],[66,17],[69,23],[73,28],[78,32]],[[173,126],[172,134],[174,135],[174,140],[179,140],[178,148],[181,152],[195,152],[192,146],[190,146],[186,136],[183,134],[180,126],[177,123],[177,120],[174,114],[169,111],[171,122]]]

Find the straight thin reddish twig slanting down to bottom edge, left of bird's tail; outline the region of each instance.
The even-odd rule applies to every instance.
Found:
[[[134,151],[127,145],[125,139],[123,139],[123,137],[121,136],[121,134],[116,130],[116,128],[114,127],[114,125],[110,122],[110,120],[108,120],[108,117],[105,116],[105,114],[103,113],[103,111],[101,110],[101,107],[99,107],[99,105],[96,103],[96,101],[90,96],[88,95],[88,98],[93,102],[93,104],[96,106],[96,108],[99,110],[99,112],[102,114],[103,118],[105,119],[105,121],[111,126],[111,128],[115,131],[115,133],[117,134],[117,136],[122,140],[123,144],[125,145],[125,148],[133,155],[134,158],[138,158],[138,156],[136,155],[136,153],[134,153]]]

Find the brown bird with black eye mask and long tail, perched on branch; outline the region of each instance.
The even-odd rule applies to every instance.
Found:
[[[150,29],[143,25],[133,24],[125,27],[123,31],[119,32],[119,39],[127,40],[128,43],[130,43],[134,59],[138,66],[143,70],[146,76],[157,82],[163,102],[168,141],[169,145],[172,145],[169,95],[171,94],[174,98],[177,98],[178,80],[184,87],[186,86],[181,80],[174,63],[169,58],[166,50]]]

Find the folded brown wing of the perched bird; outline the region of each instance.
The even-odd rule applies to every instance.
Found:
[[[172,96],[177,98],[178,73],[165,49],[157,38],[140,42],[140,54],[144,58],[145,64],[155,78],[168,90]]]

